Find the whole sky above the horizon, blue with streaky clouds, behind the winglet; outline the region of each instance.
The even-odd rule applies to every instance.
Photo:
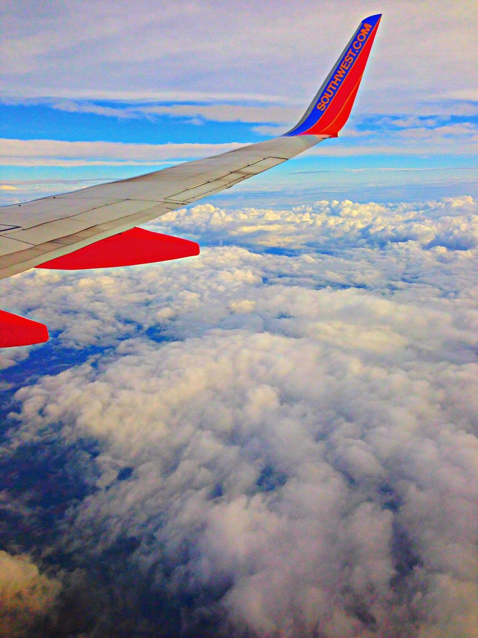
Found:
[[[228,198],[256,201],[264,188],[282,202],[294,191],[289,203],[298,188],[360,202],[477,195],[474,2],[179,6],[4,3],[0,203],[284,133],[373,13],[384,15],[340,138]]]

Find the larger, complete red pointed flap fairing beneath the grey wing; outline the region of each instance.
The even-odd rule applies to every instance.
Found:
[[[199,245],[189,239],[131,228],[119,235],[100,239],[69,255],[41,263],[37,268],[76,271],[86,268],[133,266],[137,263],[166,262],[199,255]]]

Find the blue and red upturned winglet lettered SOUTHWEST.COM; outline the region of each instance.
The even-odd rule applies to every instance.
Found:
[[[285,135],[337,137],[349,119],[381,17],[362,20],[301,121]]]

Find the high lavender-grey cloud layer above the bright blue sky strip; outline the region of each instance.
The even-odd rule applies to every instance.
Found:
[[[286,4],[274,8],[273,15],[257,2],[236,8],[231,29],[230,8],[217,3],[190,3],[181,15],[148,1],[136,11],[120,3],[112,15],[106,3],[95,3],[94,25],[88,3],[41,11],[26,3],[22,15],[10,7],[3,85],[10,97],[198,100],[221,87],[222,94],[307,103],[340,53],[337,43],[345,45],[370,5],[361,1],[349,11],[344,2],[300,2],[292,23],[284,19]],[[331,20],[334,13],[341,19]],[[448,8],[436,0],[389,3],[370,61],[373,82],[356,113],[475,108],[463,102],[474,98],[468,70],[476,64],[475,15],[468,1]]]

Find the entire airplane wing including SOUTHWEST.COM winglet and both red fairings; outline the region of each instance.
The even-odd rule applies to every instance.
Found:
[[[0,279],[33,267],[73,270],[197,255],[195,242],[136,226],[337,137],[351,112],[380,17],[359,24],[300,122],[281,137],[131,179],[0,207]],[[42,323],[0,310],[0,347],[47,340]]]

